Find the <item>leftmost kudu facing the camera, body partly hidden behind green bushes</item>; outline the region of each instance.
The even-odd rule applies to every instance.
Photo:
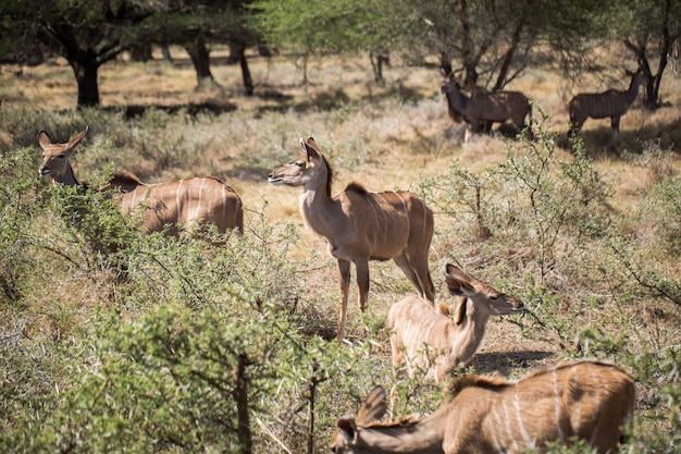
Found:
[[[41,176],[51,176],[55,183],[79,185],[69,162],[71,154],[81,145],[88,128],[74,135],[65,144],[52,143],[46,131],[38,133],[42,148]],[[116,189],[123,213],[138,218],[145,233],[160,232],[177,236],[181,226],[188,231],[197,224],[213,223],[220,233],[238,229],[244,233],[242,199],[230,186],[218,179],[195,177],[158,184],[141,183],[132,174],[115,174],[108,188]],[[140,210],[144,210],[140,211]]]

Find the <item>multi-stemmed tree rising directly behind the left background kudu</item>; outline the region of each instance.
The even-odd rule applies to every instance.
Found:
[[[465,86],[492,89],[541,61],[544,49],[552,60],[558,51],[566,66],[583,61],[604,10],[585,0],[425,0],[416,10],[408,1],[396,8],[407,21],[400,40],[411,60],[439,56],[442,71],[461,73]]]

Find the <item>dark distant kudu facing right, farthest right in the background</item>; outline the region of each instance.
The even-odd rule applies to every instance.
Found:
[[[648,78],[642,70],[632,77],[626,91],[610,88],[603,93],[582,93],[570,100],[570,132],[573,137],[590,116],[592,119],[610,118],[612,138],[619,136],[619,120],[639,96],[639,86],[647,84]]]

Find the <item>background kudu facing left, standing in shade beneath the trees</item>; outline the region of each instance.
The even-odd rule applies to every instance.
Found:
[[[449,116],[456,121],[460,115],[467,123],[465,142],[470,140],[472,133],[480,132],[484,122],[503,123],[511,120],[518,131],[522,131],[532,120],[532,105],[520,91],[487,91],[475,88],[467,96],[451,75],[445,78],[441,90],[447,98]]]

